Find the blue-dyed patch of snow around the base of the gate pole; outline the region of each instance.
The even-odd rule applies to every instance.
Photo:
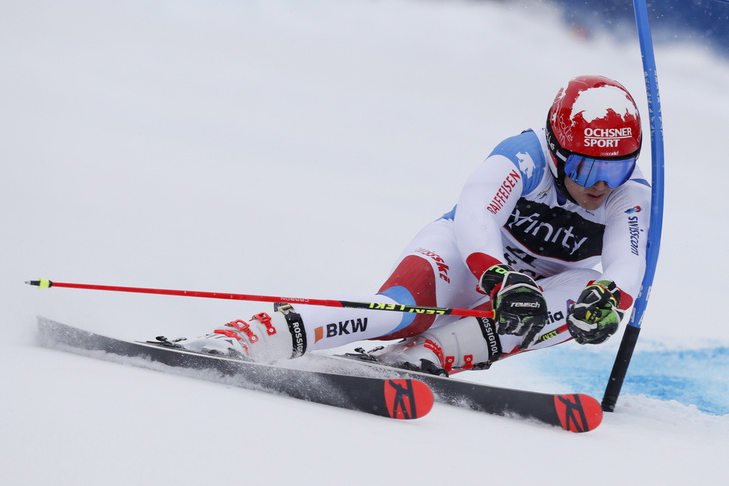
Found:
[[[528,354],[539,372],[557,374],[574,391],[599,400],[615,362],[615,350],[590,350],[574,343]],[[676,400],[712,415],[727,415],[729,348],[636,350],[620,394]]]

